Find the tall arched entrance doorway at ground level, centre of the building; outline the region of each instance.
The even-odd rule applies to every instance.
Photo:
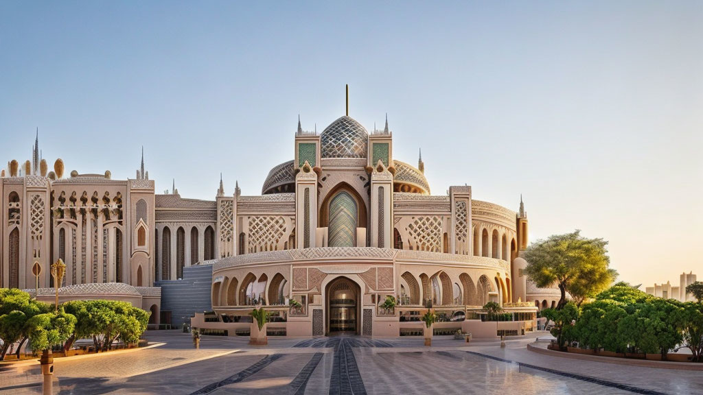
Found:
[[[327,285],[327,334],[359,335],[361,289],[354,281],[340,277]]]

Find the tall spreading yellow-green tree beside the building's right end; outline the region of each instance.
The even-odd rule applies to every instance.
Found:
[[[566,293],[581,303],[608,287],[617,272],[609,268],[607,241],[581,236],[580,231],[565,235],[553,235],[538,240],[527,248],[525,272],[538,287],[559,287],[560,310],[567,303]]]

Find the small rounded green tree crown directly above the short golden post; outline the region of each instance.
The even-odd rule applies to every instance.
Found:
[[[60,309],[58,313],[37,314],[27,320],[27,334],[32,342],[32,349],[49,350],[70,337],[76,324],[72,314]]]

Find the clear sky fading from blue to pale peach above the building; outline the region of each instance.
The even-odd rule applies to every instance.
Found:
[[[703,277],[703,2],[0,3],[0,163],[260,193],[318,131],[385,113],[394,156],[610,240],[632,283]]]

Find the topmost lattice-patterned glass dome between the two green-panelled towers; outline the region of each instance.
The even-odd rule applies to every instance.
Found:
[[[340,117],[320,136],[322,157],[366,157],[368,132],[352,117]]]

